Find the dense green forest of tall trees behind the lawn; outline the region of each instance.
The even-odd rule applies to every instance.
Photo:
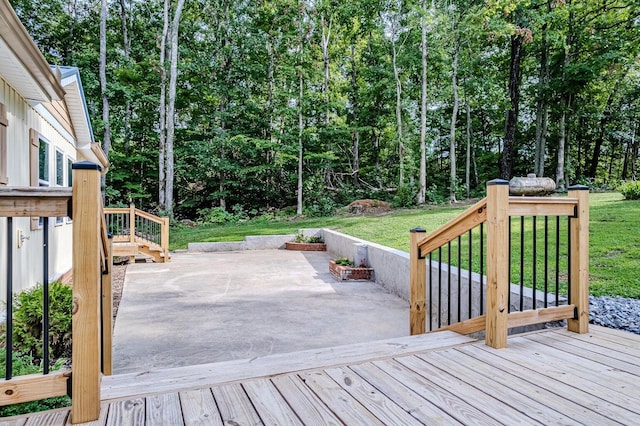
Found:
[[[110,205],[326,215],[638,178],[638,0],[10,2],[80,68]]]

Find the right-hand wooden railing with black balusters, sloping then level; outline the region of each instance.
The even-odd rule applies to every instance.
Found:
[[[429,320],[431,326],[433,318],[437,318],[437,329],[449,329],[463,334],[469,334],[477,331],[485,331],[486,344],[494,348],[502,348],[507,344],[507,331],[512,327],[528,326],[548,321],[557,321],[562,319],[568,320],[568,328],[571,331],[585,333],[588,331],[589,321],[589,191],[583,186],[574,186],[569,188],[569,194],[566,198],[553,197],[510,197],[507,181],[495,180],[487,183],[487,197],[474,206],[467,209],[464,213],[445,224],[429,236],[424,236],[424,230],[414,229],[411,232],[411,253],[410,253],[410,332],[411,334],[421,334],[426,332],[426,322]],[[524,233],[524,217],[533,217],[533,309],[524,308],[523,293],[524,273],[522,265],[524,264],[525,248],[520,248],[520,265],[521,278],[519,288],[520,308],[518,311],[511,311],[511,217],[521,216],[521,232]],[[568,217],[566,243],[568,254],[567,280],[568,280],[568,303],[561,305],[558,296],[558,266],[555,269],[555,306],[547,305],[547,295],[544,295],[544,306],[537,308],[536,298],[537,290],[536,282],[540,277],[536,278],[536,221],[537,217],[544,218],[544,224],[547,225],[548,217],[557,217],[558,227],[556,232],[559,235],[560,217]],[[484,227],[486,226],[486,232]],[[479,228],[479,232],[478,232]],[[472,252],[472,234],[476,232],[477,239],[480,240],[479,261],[471,260]],[[461,268],[461,236],[469,234],[469,242],[467,244],[469,250],[469,270],[463,271]],[[547,230],[544,230],[544,242],[547,243]],[[486,238],[486,248],[483,239]],[[521,234],[521,241],[524,236]],[[452,257],[451,242],[457,242],[458,259]],[[556,237],[555,257],[559,262],[560,237]],[[442,248],[447,245],[445,256]],[[455,250],[454,250],[455,251]],[[437,262],[433,261],[432,254],[436,253]],[[544,248],[544,259],[547,261],[547,248]],[[446,259],[446,264],[443,263]],[[453,263],[457,263],[454,266]],[[480,273],[475,274],[471,271],[473,264],[477,264]],[[547,266],[545,265],[545,268]],[[445,294],[447,306],[443,307],[439,300],[438,303],[432,303],[429,298],[434,297],[432,284],[435,278],[432,269],[437,270],[439,279],[442,279],[443,270],[446,269],[448,293]],[[429,270],[429,273],[427,273]],[[451,290],[452,270],[457,277],[458,288]],[[486,277],[484,271],[486,270]],[[474,275],[478,282],[474,281]],[[462,280],[461,277],[465,279]],[[544,280],[547,277],[545,270]],[[475,287],[474,287],[475,285]],[[429,290],[427,290],[429,289]],[[461,292],[466,292],[471,297],[472,289],[475,290],[474,301],[469,300],[468,308],[461,305]],[[544,283],[544,289],[547,289],[547,283]],[[457,315],[459,321],[451,318],[451,311],[456,310],[452,306],[452,293],[457,294]],[[436,290],[437,297],[442,297],[442,290]],[[445,326],[440,326],[441,312],[431,312],[432,307],[437,305],[437,309],[447,311],[448,320]],[[479,306],[474,308],[475,306]],[[460,312],[465,311],[468,318],[460,320]],[[429,327],[431,329],[431,327]]]

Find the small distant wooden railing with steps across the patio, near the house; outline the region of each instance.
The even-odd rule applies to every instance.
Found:
[[[169,261],[169,218],[152,215],[133,204],[127,208],[105,208],[104,212],[107,229],[113,235],[115,256],[129,256],[133,260],[142,253],[155,262]]]

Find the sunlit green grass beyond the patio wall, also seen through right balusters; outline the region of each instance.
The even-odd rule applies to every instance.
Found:
[[[619,295],[640,298],[640,201],[623,200],[619,193],[591,194],[590,200],[590,293],[593,295]],[[246,235],[295,234],[300,228],[332,228],[345,234],[409,251],[409,230],[422,227],[427,232],[454,218],[467,205],[437,206],[423,209],[396,210],[380,216],[334,216],[328,218],[279,219],[274,221],[248,221],[229,226],[204,226],[197,229],[175,228],[171,231],[172,249],[186,248],[189,242],[240,241]],[[533,284],[534,265],[536,286],[544,286],[544,219],[536,221],[536,258],[533,258],[533,223],[525,220],[524,276],[525,285]],[[555,219],[550,220],[549,238],[555,241]],[[558,266],[560,290],[566,292],[567,244],[566,219],[561,219],[560,263]],[[512,275],[514,283],[520,282],[520,219],[512,221]],[[473,236],[473,251],[479,234]],[[486,243],[486,240],[485,240]],[[468,266],[467,237],[461,239],[461,264]],[[446,251],[446,248],[445,248]],[[452,262],[457,264],[457,242],[452,244]],[[446,252],[444,254],[446,259]],[[555,281],[555,253],[550,249],[552,269],[549,274]],[[437,257],[436,257],[437,258]],[[473,270],[479,271],[479,260],[473,259]]]

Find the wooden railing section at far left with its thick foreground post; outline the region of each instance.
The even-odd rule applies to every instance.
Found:
[[[0,217],[73,219],[72,368],[0,380],[1,405],[70,395],[73,423],[96,420],[100,414],[100,381],[111,374],[112,335],[111,239],[100,174],[100,166],[81,162],[73,165],[73,188],[0,188]]]

